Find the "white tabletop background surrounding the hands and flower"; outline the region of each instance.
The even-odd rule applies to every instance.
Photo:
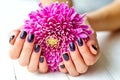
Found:
[[[86,74],[71,77],[62,73],[29,73],[17,61],[9,58],[8,34],[23,24],[31,10],[38,8],[37,0],[0,0],[0,80],[120,80],[120,31],[99,32],[102,56]]]

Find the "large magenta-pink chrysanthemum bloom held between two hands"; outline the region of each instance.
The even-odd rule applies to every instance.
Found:
[[[88,39],[92,33],[89,26],[83,24],[84,15],[75,12],[67,3],[53,3],[29,14],[23,30],[35,35],[35,43],[42,47],[49,71],[59,71],[62,54],[68,52],[70,42],[78,38]]]

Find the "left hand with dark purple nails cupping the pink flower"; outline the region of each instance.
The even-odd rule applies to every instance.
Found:
[[[34,35],[20,30],[13,30],[10,33],[10,57],[12,59],[18,59],[19,64],[21,66],[27,66],[30,72],[39,70],[41,73],[46,73],[48,71],[48,65],[45,57],[41,56],[40,45],[34,44]]]

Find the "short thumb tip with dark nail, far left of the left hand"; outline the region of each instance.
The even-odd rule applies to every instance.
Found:
[[[9,43],[11,45],[14,45],[14,42],[16,40],[16,38],[18,37],[18,34],[20,33],[20,30],[13,30],[10,34],[9,34]]]

